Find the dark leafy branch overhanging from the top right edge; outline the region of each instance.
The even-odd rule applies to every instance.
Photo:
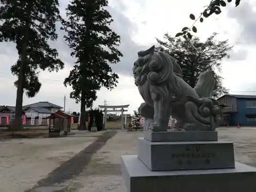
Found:
[[[232,0],[227,0],[227,3],[231,3]],[[241,0],[235,0],[234,3],[237,6],[240,5]],[[183,36],[184,38],[192,38],[191,31],[194,33],[197,33],[197,27],[196,23],[199,20],[201,23],[204,22],[204,18],[209,17],[212,14],[219,15],[221,14],[221,8],[226,7],[226,2],[223,0],[210,0],[210,3],[208,6],[205,6],[206,8],[203,10],[203,12],[200,13],[199,17],[196,18],[194,14],[189,14],[189,18],[194,20],[193,25],[191,27],[183,27],[181,32],[176,34],[176,37]]]

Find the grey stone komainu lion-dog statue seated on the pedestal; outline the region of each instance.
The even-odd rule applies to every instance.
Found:
[[[153,131],[166,131],[170,115],[176,128],[186,131],[213,131],[222,121],[213,71],[202,72],[195,88],[182,79],[182,70],[173,57],[155,51],[155,46],[138,52],[133,73],[135,84],[144,99],[139,113],[145,126]]]

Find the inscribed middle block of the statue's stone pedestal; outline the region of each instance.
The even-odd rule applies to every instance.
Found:
[[[227,141],[150,142],[139,138],[139,159],[153,171],[233,168],[233,143]]]

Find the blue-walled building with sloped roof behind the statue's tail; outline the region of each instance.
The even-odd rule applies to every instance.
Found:
[[[256,126],[256,95],[223,95],[218,99],[223,108],[224,124]]]

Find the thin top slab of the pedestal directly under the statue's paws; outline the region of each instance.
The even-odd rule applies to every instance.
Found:
[[[151,142],[173,142],[173,141],[218,141],[217,131],[167,131],[152,132],[145,131],[144,138]]]

